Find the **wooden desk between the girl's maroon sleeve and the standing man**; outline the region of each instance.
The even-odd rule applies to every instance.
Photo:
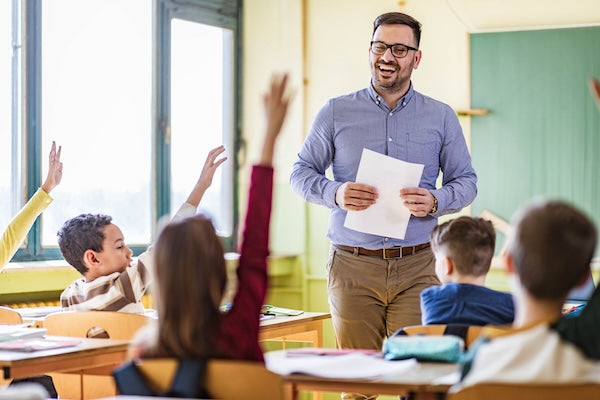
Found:
[[[329,313],[304,312],[295,317],[277,316],[260,323],[259,340],[280,340],[285,349],[286,341],[311,342],[323,347],[323,320]]]

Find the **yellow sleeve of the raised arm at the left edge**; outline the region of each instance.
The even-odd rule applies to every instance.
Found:
[[[0,268],[17,252],[35,219],[52,203],[52,197],[41,188],[10,221],[0,239]]]

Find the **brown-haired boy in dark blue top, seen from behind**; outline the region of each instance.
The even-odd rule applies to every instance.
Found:
[[[459,217],[436,226],[430,240],[435,270],[443,284],[421,292],[422,323],[512,323],[512,295],[485,287],[496,242],[492,223]]]

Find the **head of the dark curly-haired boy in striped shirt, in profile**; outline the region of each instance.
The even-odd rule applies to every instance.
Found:
[[[131,264],[132,252],[111,221],[104,214],[81,214],[58,231],[63,257],[88,280],[123,272]]]

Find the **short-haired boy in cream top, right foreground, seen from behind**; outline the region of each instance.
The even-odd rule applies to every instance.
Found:
[[[600,382],[600,363],[550,327],[561,317],[569,291],[589,274],[596,241],[590,219],[566,203],[534,202],[517,214],[504,255],[515,320],[511,329],[490,332],[472,347],[462,386]]]

